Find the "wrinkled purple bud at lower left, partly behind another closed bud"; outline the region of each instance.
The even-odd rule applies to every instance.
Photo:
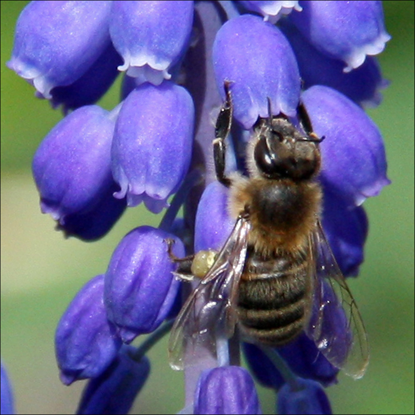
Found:
[[[122,345],[116,328],[106,316],[104,275],[92,278],[63,313],[55,334],[55,351],[61,380],[99,376]]]

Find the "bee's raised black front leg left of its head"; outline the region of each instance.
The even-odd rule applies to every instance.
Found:
[[[215,139],[213,140],[213,160],[215,162],[216,178],[220,183],[229,187],[231,181],[225,175],[225,155],[226,145],[225,140],[228,137],[230,127],[232,125],[232,99],[229,90],[230,83],[224,83],[226,100],[221,107],[215,126]]]

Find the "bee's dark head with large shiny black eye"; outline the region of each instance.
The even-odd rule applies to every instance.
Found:
[[[285,117],[259,119],[254,128],[250,170],[268,179],[308,180],[320,169],[317,136],[304,135]]]

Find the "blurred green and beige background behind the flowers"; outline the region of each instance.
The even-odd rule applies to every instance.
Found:
[[[118,241],[159,218],[129,209],[102,241],[65,240],[39,209],[30,166],[37,145],[61,119],[31,86],[6,68],[14,25],[26,1],[1,1],[1,357],[13,382],[16,412],[72,414],[83,383],[64,387],[53,337],[69,301],[105,271]],[[392,186],[365,202],[370,233],[360,277],[350,281],[371,346],[363,379],[341,375],[329,388],[335,414],[414,414],[414,1],[384,1],[393,39],[380,55],[380,107],[370,111],[383,133]],[[112,108],[119,82],[101,104]],[[183,404],[181,373],[171,371],[166,341],[150,353],[152,373],[131,413],[173,414]],[[264,414],[275,396],[260,390]]]

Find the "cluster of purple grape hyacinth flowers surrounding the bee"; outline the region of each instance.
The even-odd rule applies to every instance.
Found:
[[[373,55],[389,38],[380,1],[32,1],[22,11],[7,64],[65,113],[33,160],[42,212],[66,235],[95,240],[127,207],[166,209],[159,228],[125,235],[58,324],[62,382],[90,379],[79,414],[125,414],[143,387],[145,353],[181,303],[166,240],[184,257],[219,249],[233,226],[212,161],[225,81],[237,121],[229,170],[242,168],[268,99],[274,115],[293,119],[305,104],[325,137],[323,227],[343,273],[357,273],[361,204],[389,183],[382,137],[363,109],[380,102],[386,82]],[[120,71],[122,102],[108,112],[95,103]],[[153,334],[129,345],[144,333]],[[278,369],[256,346],[243,350],[254,377],[278,391],[279,414],[331,413],[323,386],[338,369],[305,334],[278,349]],[[186,368],[182,413],[261,413],[246,369],[204,359]]]

